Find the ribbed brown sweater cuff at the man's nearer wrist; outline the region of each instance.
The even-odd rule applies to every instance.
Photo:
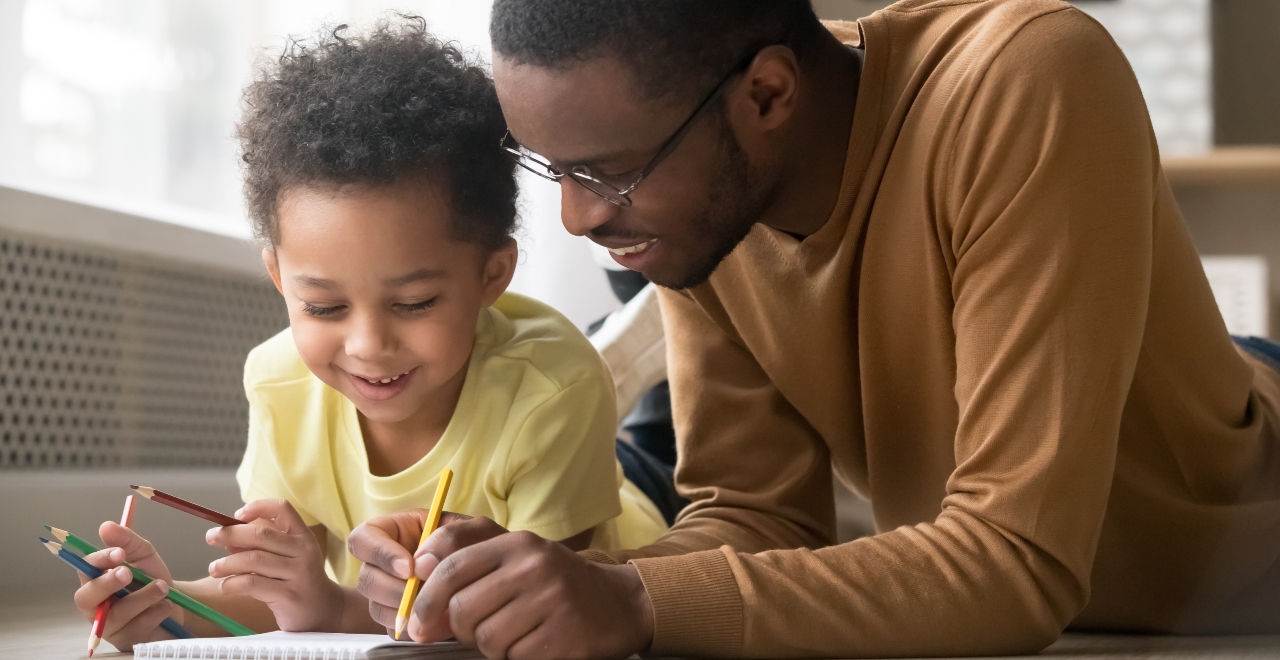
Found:
[[[736,657],[742,595],[722,550],[632,559],[653,605],[649,655]]]

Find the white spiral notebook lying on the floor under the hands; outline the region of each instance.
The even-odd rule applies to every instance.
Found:
[[[250,637],[140,643],[133,657],[183,660],[471,660],[484,655],[457,642],[394,642],[385,634],[271,632]]]

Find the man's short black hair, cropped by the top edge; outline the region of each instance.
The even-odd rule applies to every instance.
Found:
[[[822,33],[809,0],[497,0],[489,36],[517,64],[626,64],[646,98],[695,97],[741,59],[782,43],[803,59]]]

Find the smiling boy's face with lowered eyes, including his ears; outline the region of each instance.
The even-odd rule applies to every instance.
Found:
[[[451,235],[439,191],[426,177],[285,191],[264,252],[302,361],[374,422],[452,414],[480,310],[515,270],[515,242],[489,255]]]

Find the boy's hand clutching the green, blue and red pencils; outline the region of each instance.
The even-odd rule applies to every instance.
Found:
[[[79,576],[81,588],[76,590],[76,609],[87,620],[93,620],[93,613],[100,602],[133,582],[129,569],[120,565],[128,562],[155,581],[111,605],[102,638],[120,651],[128,651],[136,643],[168,640],[170,636],[160,629],[160,622],[170,618],[183,623],[182,609],[164,600],[173,581],[169,567],[150,542],[127,527],[105,522],[99,527],[99,536],[108,547],[86,555],[84,559],[101,568],[104,573],[95,579]]]

